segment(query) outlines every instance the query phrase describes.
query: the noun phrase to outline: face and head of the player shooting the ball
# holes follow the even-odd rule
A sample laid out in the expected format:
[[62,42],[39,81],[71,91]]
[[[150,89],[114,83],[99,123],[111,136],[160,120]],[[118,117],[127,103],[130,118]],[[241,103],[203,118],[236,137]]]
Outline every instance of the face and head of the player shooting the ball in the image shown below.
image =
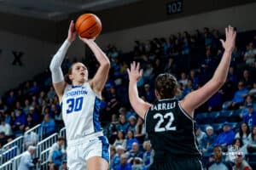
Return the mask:
[[76,63],[72,66],[72,74],[69,75],[72,82],[84,83],[88,80],[88,70],[82,63]]

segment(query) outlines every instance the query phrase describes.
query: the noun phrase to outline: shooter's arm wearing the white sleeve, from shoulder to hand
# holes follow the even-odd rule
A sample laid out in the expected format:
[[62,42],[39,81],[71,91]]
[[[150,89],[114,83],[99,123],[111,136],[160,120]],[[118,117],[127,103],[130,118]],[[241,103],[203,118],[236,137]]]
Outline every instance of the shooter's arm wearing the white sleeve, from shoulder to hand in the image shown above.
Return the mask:
[[67,49],[70,44],[75,40],[76,32],[74,31],[73,20],[70,22],[68,29],[68,36],[65,42],[61,45],[61,48],[57,51],[53,59],[51,59],[49,70],[51,71],[51,77],[55,92],[61,100],[66,82],[64,81],[63,73],[61,71],[61,63],[67,54]]

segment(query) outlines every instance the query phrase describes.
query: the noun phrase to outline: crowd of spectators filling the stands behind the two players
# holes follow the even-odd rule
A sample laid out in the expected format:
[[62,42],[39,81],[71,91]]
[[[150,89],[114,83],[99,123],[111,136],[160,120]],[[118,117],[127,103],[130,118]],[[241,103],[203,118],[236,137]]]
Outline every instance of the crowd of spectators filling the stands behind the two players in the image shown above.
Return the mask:
[[[255,31],[238,34],[224,87],[195,111],[198,123],[196,138],[203,153],[204,166],[209,169],[238,169],[241,165],[247,165],[247,154],[256,153],[255,35]],[[106,48],[111,69],[102,93],[100,118],[111,144],[110,169],[147,169],[154,161],[154,150],[148,141],[143,119],[132,110],[128,98],[126,68],[131,61],[139,61],[143,68],[143,77],[137,86],[144,100],[154,102],[154,78],[162,72],[169,72],[177,77],[180,92],[177,99],[183,99],[212,77],[223,54],[219,42],[222,37],[218,30],[206,27],[203,32],[197,30],[195,34],[184,31],[183,34],[178,33],[169,38],[135,41],[133,51],[128,54],[122,54],[113,45]],[[71,59],[65,59],[62,65],[64,72],[67,73],[72,63]],[[92,77],[98,66],[96,59],[90,57],[85,65]],[[200,120],[205,113],[205,119]],[[222,113],[230,113],[229,118],[221,116]],[[40,138],[44,139],[63,127],[61,106],[51,86],[48,69],[32,81],[10,89],[0,98],[0,119],[0,148],[8,139],[23,135],[38,123],[41,123],[38,134],[24,136],[26,147],[37,144]],[[216,122],[206,123],[210,119],[218,122],[218,126],[213,126],[217,125]],[[38,136],[39,134],[43,135]],[[58,143],[60,140],[63,139],[59,139]],[[52,162],[53,153],[56,157],[61,157],[62,160],[58,159],[54,163],[57,167],[65,160],[62,145],[55,144],[57,151],[51,150],[49,158],[49,162]]]

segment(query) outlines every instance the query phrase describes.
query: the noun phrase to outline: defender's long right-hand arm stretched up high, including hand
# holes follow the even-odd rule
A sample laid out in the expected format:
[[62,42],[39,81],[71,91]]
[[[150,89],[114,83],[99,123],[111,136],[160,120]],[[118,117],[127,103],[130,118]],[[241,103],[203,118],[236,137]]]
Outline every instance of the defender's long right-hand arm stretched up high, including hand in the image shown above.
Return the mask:
[[236,31],[229,26],[225,29],[226,41],[220,40],[224,48],[224,54],[218,65],[217,70],[214,72],[212,79],[207,82],[202,88],[195,90],[188,94],[183,100],[180,101],[181,106],[190,116],[193,117],[194,110],[207,101],[219,88],[224,85],[228,76],[230,68],[230,59],[232,51],[235,48]]

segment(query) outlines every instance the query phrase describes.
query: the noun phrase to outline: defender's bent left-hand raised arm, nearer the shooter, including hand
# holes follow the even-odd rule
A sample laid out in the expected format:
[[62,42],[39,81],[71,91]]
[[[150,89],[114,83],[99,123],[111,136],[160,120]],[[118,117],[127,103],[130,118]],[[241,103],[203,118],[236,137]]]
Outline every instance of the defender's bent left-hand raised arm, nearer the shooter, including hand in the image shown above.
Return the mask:
[[151,106],[147,102],[143,101],[137,92],[137,81],[143,76],[143,70],[140,70],[140,64],[135,61],[131,63],[131,69],[127,69],[129,75],[129,99],[131,106],[139,116],[144,119],[144,115],[148,108]]

